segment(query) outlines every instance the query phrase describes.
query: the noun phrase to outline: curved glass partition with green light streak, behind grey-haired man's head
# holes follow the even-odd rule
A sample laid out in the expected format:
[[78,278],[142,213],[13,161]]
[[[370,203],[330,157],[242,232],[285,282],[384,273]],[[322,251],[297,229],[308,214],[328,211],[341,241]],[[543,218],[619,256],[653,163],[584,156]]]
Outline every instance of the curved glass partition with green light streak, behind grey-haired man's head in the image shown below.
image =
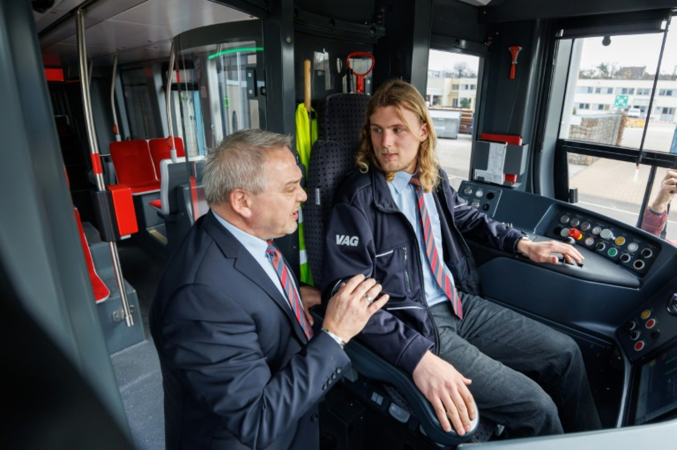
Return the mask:
[[190,204],[192,221],[209,210],[202,191],[204,156],[235,131],[265,129],[262,35],[261,21],[248,20],[174,39],[171,115],[174,135],[185,144],[188,185],[181,200]]

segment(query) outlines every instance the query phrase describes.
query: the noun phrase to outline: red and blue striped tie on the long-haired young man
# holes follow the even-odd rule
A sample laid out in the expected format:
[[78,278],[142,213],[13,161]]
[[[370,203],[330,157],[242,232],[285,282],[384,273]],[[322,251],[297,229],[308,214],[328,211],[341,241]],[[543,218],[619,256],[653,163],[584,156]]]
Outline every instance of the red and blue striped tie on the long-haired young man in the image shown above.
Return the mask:
[[409,183],[414,186],[416,192],[416,200],[418,200],[418,212],[420,212],[421,227],[423,229],[423,239],[425,241],[425,254],[428,256],[428,263],[433,271],[433,276],[437,282],[437,286],[441,288],[444,294],[451,300],[454,313],[459,319],[463,318],[463,311],[461,309],[461,298],[456,292],[456,286],[444,270],[444,263],[437,253],[437,246],[435,246],[435,236],[433,235],[433,224],[431,223],[428,210],[425,207],[425,200],[423,197],[423,187],[418,179],[418,175],[413,175]]

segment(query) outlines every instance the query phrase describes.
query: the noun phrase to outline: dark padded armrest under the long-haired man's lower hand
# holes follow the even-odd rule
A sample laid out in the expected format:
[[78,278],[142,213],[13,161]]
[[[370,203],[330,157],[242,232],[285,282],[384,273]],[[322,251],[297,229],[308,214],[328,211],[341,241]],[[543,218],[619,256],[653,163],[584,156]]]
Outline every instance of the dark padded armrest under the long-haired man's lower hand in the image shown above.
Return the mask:
[[[318,323],[322,323],[320,314],[324,315],[324,310],[315,307],[311,309],[311,313],[315,317],[315,326]],[[439,420],[437,420],[433,406],[424,397],[416,384],[414,384],[414,380],[412,380],[409,374],[391,365],[356,339],[351,339],[346,344],[345,353],[350,358],[353,368],[362,374],[362,376],[395,386],[408,401],[410,407],[412,407],[413,413],[416,415],[425,434],[435,443],[458,445],[468,441],[475,434],[479,425],[479,411],[475,420],[471,422],[473,428],[470,432],[467,432],[463,436],[458,436],[454,430],[447,433],[443,430]]]

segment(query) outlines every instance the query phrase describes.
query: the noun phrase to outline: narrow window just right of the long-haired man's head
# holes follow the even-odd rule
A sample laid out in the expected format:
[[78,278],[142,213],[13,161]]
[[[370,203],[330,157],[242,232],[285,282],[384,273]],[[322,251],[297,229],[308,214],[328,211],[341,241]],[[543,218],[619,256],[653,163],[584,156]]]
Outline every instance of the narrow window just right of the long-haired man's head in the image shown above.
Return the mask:
[[470,172],[480,58],[431,50],[428,61],[426,103],[437,134],[437,157],[458,189]]

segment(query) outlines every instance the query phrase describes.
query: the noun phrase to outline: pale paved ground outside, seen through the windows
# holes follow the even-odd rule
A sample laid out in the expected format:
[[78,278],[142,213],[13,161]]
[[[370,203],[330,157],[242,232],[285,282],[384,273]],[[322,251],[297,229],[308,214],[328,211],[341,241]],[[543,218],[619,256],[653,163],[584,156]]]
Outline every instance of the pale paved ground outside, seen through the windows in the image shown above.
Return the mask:
[[[668,152],[675,127],[674,123],[650,123],[645,148]],[[642,129],[626,128],[622,145],[638,148],[641,139]],[[470,135],[438,139],[437,154],[441,166],[455,189],[461,181],[468,179],[471,149]],[[664,175],[665,169],[659,168],[652,192],[656,192]],[[631,225],[637,223],[648,179],[648,166],[640,165],[636,170],[635,164],[630,162],[600,159],[590,166],[569,164],[569,185],[578,188],[578,206]],[[668,239],[677,240],[677,208],[673,208],[668,217]]]

